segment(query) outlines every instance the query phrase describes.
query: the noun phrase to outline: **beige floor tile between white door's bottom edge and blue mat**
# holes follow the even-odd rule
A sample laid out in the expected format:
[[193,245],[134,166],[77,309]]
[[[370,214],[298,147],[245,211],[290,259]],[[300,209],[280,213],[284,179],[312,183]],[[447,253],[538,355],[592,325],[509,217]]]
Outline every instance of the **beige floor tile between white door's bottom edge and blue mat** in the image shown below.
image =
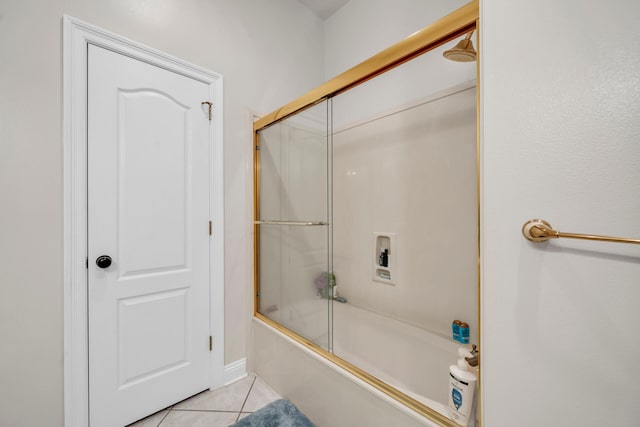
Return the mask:
[[202,392],[176,404],[174,409],[240,412],[254,378],[255,375],[251,374],[221,389]]

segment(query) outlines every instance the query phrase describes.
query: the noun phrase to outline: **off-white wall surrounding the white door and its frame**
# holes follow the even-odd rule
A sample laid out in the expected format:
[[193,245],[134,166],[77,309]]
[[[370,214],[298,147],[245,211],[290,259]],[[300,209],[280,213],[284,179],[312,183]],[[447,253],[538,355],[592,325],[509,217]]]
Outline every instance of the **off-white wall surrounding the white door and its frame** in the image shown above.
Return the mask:
[[0,425],[63,422],[62,15],[225,78],[225,359],[246,356],[249,110],[323,81],[322,22],[295,0],[0,2]]

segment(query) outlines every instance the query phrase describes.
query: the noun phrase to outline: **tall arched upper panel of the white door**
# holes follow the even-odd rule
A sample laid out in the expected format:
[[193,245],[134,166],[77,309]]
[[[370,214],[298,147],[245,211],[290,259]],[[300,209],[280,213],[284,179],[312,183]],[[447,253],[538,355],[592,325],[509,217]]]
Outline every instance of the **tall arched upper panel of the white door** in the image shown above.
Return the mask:
[[158,91],[118,98],[119,273],[186,268],[190,147],[174,141],[188,140],[189,109]]

